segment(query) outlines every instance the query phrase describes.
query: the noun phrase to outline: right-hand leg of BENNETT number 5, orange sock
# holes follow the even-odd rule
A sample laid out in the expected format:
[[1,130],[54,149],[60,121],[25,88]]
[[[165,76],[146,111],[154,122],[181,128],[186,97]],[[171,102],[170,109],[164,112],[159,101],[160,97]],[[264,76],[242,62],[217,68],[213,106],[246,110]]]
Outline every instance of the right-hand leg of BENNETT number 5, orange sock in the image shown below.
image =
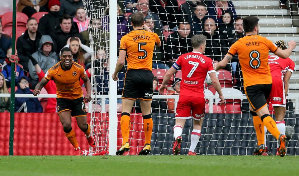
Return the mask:
[[151,105],[152,105],[151,100],[140,98],[145,143],[138,155],[148,155],[151,151],[150,141],[153,132],[153,119],[151,115]]

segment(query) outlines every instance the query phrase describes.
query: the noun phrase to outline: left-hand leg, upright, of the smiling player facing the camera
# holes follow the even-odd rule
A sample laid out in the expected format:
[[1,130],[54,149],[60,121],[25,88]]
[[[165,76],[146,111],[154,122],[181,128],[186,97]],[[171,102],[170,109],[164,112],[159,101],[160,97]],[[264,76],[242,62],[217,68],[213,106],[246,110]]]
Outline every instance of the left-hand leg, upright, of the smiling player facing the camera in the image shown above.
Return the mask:
[[76,139],[75,132],[71,126],[71,111],[69,110],[60,111],[58,115],[59,115],[59,120],[63,126],[63,131],[66,138],[68,138],[69,142],[75,148],[74,155],[78,155],[78,156],[81,155],[81,149]]

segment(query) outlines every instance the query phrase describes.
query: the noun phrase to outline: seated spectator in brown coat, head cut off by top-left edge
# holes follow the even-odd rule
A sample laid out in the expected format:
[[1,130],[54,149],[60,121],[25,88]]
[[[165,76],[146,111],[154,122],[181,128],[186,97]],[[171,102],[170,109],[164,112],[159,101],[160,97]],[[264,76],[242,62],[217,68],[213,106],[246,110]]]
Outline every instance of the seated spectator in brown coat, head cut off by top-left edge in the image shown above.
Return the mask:
[[25,13],[31,17],[34,13],[40,11],[40,7],[44,6],[49,0],[19,0],[18,12]]

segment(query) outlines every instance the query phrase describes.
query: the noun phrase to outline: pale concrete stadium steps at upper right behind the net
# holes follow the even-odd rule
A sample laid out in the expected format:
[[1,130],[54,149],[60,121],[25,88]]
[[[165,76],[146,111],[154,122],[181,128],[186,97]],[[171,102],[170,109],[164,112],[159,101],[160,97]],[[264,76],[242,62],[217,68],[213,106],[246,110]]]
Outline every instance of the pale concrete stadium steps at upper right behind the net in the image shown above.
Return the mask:
[[260,33],[268,39],[284,40],[288,42],[295,40],[297,47],[290,58],[295,62],[295,71],[289,82],[289,93],[299,93],[299,30],[292,25],[290,10],[279,9],[279,1],[268,0],[239,0],[232,1],[238,15],[258,16],[260,21]]

